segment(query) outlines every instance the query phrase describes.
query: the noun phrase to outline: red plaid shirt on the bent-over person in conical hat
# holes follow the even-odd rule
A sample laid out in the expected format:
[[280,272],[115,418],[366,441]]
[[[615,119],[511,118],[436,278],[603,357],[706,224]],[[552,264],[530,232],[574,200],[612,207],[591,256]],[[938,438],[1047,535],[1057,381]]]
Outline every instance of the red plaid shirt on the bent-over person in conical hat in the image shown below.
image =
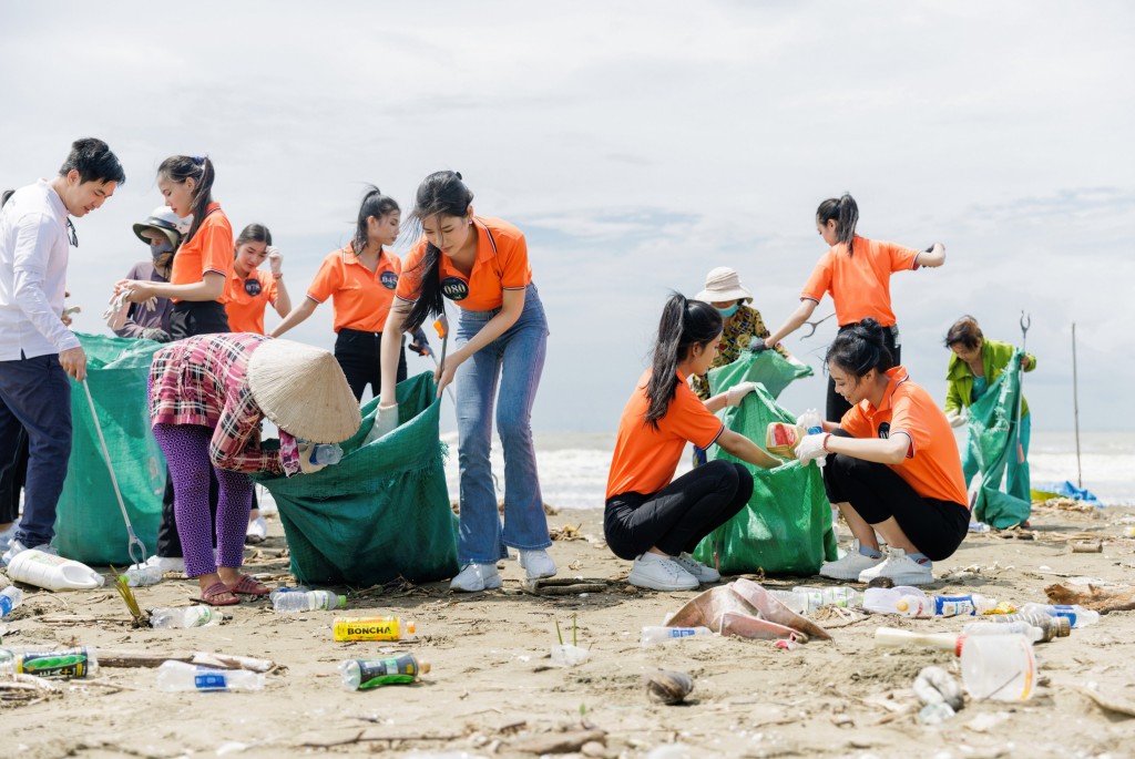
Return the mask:
[[[201,424],[213,430],[209,458],[236,472],[292,474],[299,456],[260,448],[260,410],[249,389],[249,359],[263,335],[222,332],[171,343],[150,366],[150,423]],[[280,439],[285,437],[280,430]],[[294,449],[294,446],[293,446]]]

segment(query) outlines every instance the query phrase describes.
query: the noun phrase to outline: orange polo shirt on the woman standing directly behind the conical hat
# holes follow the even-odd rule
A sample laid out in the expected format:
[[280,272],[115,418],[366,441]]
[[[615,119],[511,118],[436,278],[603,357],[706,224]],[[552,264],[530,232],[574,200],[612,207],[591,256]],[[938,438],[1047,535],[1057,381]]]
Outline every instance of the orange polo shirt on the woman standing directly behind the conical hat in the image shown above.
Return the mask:
[[378,265],[371,271],[359,262],[347,243],[323,259],[308,288],[308,297],[316,303],[331,298],[336,332],[340,329],[381,332],[401,273],[402,261],[389,251],[382,250]]

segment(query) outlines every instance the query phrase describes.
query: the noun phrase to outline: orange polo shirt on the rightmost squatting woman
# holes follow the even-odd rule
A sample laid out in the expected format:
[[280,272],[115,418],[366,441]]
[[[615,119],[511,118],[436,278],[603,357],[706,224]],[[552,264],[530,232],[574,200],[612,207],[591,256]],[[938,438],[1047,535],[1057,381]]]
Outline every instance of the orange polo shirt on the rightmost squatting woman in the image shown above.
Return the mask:
[[[858,253],[856,253],[858,255]],[[878,408],[860,400],[843,414],[840,427],[857,438],[890,438],[906,432],[907,458],[889,464],[923,498],[952,500],[968,507],[961,456],[945,414],[923,388],[910,381],[907,370],[886,372],[890,382]]]

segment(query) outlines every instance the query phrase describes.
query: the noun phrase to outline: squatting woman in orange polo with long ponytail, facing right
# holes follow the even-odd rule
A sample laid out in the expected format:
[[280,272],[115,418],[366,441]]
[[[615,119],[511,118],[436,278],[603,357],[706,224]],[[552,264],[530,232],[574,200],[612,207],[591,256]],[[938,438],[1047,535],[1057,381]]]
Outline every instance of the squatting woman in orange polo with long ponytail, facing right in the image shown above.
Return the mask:
[[628,581],[654,590],[690,590],[721,579],[690,556],[698,542],[740,512],[753,495],[745,466],[717,459],[673,480],[687,442],[717,444],[754,466],[779,461],[726,430],[714,412],[740,405],[753,382],[701,400],[686,383],[717,355],[722,318],[708,303],[673,295],[658,324],[654,359],[623,408],[607,477],[603,531],[616,556],[633,559]]

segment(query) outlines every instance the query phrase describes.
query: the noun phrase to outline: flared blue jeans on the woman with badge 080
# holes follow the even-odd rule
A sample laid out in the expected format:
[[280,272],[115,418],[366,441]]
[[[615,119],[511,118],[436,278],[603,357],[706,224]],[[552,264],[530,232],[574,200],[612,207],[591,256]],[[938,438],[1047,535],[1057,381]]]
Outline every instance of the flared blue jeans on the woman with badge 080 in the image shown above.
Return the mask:
[[[462,311],[457,322],[457,346],[468,343],[499,312],[499,309]],[[461,472],[457,558],[462,565],[495,564],[508,557],[505,546],[532,550],[552,545],[536,472],[531,423],[547,343],[544,305],[536,285],[529,285],[524,310],[516,323],[457,368],[454,377]],[[489,466],[494,398],[497,399],[497,433],[504,446],[503,529]]]

